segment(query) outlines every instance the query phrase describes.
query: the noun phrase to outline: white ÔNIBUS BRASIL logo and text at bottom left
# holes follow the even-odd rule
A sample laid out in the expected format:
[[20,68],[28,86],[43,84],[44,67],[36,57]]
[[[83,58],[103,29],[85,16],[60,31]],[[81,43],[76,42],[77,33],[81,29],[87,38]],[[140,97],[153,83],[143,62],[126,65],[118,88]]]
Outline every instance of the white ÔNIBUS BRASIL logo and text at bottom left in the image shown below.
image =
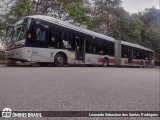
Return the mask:
[[2,117],[10,118],[10,117],[42,117],[39,112],[13,112],[10,108],[4,108],[2,110]]

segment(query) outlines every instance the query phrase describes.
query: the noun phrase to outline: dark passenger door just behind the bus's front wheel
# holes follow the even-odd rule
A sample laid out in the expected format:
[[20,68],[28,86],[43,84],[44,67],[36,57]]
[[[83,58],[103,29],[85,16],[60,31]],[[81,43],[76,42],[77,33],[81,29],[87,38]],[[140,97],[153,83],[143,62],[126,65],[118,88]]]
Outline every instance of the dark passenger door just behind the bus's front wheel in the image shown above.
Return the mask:
[[75,39],[75,60],[77,62],[84,62],[85,53],[84,53],[84,37],[76,36]]

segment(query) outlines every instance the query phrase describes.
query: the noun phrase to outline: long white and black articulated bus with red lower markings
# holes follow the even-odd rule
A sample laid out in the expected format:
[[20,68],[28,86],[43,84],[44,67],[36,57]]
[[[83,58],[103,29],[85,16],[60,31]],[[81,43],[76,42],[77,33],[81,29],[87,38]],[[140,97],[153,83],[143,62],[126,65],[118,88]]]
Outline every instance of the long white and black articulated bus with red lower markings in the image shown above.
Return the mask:
[[13,26],[6,55],[10,60],[41,66],[154,65],[154,51],[148,48],[43,15],[27,16]]

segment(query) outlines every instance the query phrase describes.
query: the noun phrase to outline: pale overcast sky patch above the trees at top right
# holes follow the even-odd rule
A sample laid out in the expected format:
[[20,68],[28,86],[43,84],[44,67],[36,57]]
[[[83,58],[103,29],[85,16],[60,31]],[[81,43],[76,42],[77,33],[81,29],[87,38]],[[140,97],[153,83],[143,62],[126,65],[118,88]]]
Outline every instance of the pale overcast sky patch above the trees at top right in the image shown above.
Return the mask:
[[159,9],[160,0],[121,0],[122,7],[130,13],[138,13],[144,11],[145,8],[155,6]]

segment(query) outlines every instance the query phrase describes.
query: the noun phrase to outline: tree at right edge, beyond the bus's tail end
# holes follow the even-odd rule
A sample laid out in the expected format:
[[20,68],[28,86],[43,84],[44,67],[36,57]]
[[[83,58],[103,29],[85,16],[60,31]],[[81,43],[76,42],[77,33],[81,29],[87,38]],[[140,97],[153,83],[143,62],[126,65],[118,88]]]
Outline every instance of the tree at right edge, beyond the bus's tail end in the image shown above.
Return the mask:
[[153,49],[158,59],[160,58],[160,11],[152,7],[145,9],[138,16],[144,22],[141,33],[142,44]]

